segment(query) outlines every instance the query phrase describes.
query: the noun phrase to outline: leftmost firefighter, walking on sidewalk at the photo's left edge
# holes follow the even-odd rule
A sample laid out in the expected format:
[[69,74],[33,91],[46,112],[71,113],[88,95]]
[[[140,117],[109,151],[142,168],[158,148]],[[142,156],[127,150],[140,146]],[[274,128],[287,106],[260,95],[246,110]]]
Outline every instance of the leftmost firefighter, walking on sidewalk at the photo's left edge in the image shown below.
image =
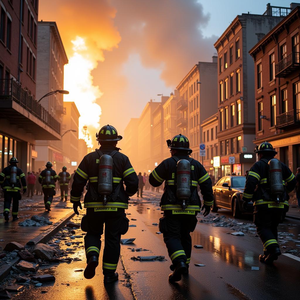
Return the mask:
[[21,184],[23,194],[26,193],[26,177],[23,171],[17,167],[18,160],[15,157],[10,158],[9,166],[0,173],[0,185],[4,190],[4,220],[9,221],[10,203],[13,200],[11,214],[13,221],[18,220],[19,200],[21,200]]

